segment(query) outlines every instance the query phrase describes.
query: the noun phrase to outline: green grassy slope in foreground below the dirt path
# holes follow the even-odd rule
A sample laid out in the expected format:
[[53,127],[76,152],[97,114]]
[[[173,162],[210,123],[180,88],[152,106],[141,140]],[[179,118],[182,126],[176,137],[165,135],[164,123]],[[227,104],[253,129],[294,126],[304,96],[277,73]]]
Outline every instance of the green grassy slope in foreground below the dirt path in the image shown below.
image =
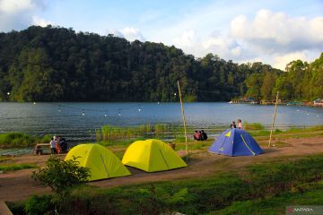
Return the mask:
[[[67,214],[284,214],[287,205],[322,202],[322,178],[323,155],[318,155],[204,178],[109,189],[85,186],[60,206]],[[311,201],[302,199],[310,196]]]

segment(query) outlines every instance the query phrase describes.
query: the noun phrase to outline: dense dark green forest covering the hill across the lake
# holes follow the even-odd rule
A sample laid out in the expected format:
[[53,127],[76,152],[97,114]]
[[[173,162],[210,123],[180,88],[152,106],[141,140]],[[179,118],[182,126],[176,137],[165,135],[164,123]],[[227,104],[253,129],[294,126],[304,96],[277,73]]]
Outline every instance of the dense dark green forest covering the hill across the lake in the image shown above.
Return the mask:
[[323,97],[323,55],[286,68],[52,26],[0,33],[0,100],[174,101],[178,80],[188,101]]

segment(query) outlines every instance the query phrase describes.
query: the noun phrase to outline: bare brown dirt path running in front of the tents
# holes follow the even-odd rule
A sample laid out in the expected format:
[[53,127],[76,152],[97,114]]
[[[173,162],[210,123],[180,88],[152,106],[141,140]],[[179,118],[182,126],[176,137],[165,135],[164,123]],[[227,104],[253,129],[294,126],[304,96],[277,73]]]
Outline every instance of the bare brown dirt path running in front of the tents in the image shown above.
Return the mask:
[[[301,157],[323,152],[323,137],[289,138],[285,139],[284,142],[285,147],[282,148],[262,147],[265,153],[256,157],[228,157],[208,153],[205,150],[191,151],[188,168],[157,173],[146,173],[136,168],[129,168],[132,176],[109,178],[89,184],[99,187],[111,187],[184,178],[200,178],[211,176],[218,172],[237,170],[253,163],[270,162],[275,159]],[[273,143],[275,144],[275,141]],[[48,158],[49,155],[24,155],[9,159],[12,159],[14,163],[33,163],[44,166]],[[62,155],[62,158],[64,158],[64,155]],[[0,201],[26,200],[32,194],[50,193],[49,188],[42,187],[31,179],[32,171],[33,169],[23,169],[0,174]]]

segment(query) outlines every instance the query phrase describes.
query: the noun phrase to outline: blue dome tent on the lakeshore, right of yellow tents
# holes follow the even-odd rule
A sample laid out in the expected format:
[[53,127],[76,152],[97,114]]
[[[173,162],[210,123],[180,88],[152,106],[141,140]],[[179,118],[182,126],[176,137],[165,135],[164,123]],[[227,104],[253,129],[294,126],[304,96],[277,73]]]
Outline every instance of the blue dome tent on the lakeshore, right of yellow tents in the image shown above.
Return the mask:
[[255,156],[263,152],[249,133],[237,128],[223,132],[209,151],[229,156]]

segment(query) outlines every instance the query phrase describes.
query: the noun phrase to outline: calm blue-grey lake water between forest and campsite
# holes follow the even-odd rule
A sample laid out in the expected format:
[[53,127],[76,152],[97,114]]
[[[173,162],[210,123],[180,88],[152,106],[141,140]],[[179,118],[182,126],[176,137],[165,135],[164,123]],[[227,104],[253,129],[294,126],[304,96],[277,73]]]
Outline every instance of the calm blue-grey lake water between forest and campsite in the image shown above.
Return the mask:
[[[187,124],[220,133],[241,118],[270,127],[274,106],[196,102],[184,104]],[[16,103],[0,102],[0,133],[61,134],[70,142],[93,141],[102,125],[181,125],[179,103]],[[323,108],[279,106],[275,127],[323,125]],[[212,129],[211,129],[212,128]],[[193,131],[188,131],[192,133]]]

